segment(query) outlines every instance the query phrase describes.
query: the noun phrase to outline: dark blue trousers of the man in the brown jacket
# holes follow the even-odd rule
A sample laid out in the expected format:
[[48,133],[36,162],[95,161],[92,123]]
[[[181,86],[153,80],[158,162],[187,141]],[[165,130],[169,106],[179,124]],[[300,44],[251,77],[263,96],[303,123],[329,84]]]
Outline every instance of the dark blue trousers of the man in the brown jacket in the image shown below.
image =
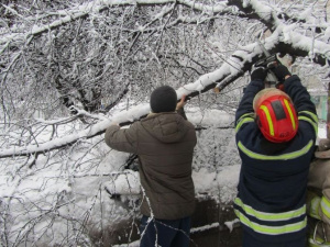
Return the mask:
[[140,247],[189,247],[190,217],[165,221],[142,216]]

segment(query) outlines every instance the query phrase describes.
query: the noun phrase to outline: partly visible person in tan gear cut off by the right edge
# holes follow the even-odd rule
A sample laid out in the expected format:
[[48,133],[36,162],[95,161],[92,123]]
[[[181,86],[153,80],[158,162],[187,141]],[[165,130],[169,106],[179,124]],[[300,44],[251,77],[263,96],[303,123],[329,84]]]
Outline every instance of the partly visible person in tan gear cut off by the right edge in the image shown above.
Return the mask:
[[330,139],[320,139],[308,177],[309,246],[330,246]]

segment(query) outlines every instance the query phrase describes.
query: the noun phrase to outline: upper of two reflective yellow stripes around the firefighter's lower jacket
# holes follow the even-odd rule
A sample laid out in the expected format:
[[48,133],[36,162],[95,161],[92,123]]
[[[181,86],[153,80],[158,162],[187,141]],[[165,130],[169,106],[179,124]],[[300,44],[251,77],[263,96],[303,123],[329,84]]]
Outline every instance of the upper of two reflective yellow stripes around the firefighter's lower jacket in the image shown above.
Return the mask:
[[306,213],[306,205],[301,206],[298,210],[293,210],[293,211],[288,211],[288,212],[284,212],[284,213],[265,213],[265,212],[256,211],[253,207],[251,207],[250,205],[245,205],[242,202],[242,200],[239,198],[237,198],[234,200],[234,203],[237,205],[239,205],[240,207],[242,207],[242,210],[246,214],[254,216],[258,220],[270,221],[270,222],[287,221],[287,220],[290,220],[294,217],[299,217]]

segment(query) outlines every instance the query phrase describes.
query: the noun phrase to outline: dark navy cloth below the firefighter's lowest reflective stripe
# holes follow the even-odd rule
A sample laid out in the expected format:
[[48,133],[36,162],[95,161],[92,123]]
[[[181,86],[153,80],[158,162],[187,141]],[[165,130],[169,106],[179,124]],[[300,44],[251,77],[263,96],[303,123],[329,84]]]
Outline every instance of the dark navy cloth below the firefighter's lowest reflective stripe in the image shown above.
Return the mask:
[[243,247],[306,247],[306,237],[286,243],[265,243],[243,231]]

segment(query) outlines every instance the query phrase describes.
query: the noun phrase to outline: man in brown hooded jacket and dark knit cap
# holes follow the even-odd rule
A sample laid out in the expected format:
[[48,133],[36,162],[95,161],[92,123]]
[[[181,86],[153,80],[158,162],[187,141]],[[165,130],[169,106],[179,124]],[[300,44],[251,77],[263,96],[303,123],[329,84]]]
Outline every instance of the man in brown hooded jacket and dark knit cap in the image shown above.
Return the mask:
[[[142,186],[141,247],[188,247],[190,215],[195,210],[191,162],[196,132],[184,113],[185,97],[156,88],[150,99],[152,113],[129,128],[110,126],[106,143],[140,159]],[[179,114],[178,114],[179,113]]]

